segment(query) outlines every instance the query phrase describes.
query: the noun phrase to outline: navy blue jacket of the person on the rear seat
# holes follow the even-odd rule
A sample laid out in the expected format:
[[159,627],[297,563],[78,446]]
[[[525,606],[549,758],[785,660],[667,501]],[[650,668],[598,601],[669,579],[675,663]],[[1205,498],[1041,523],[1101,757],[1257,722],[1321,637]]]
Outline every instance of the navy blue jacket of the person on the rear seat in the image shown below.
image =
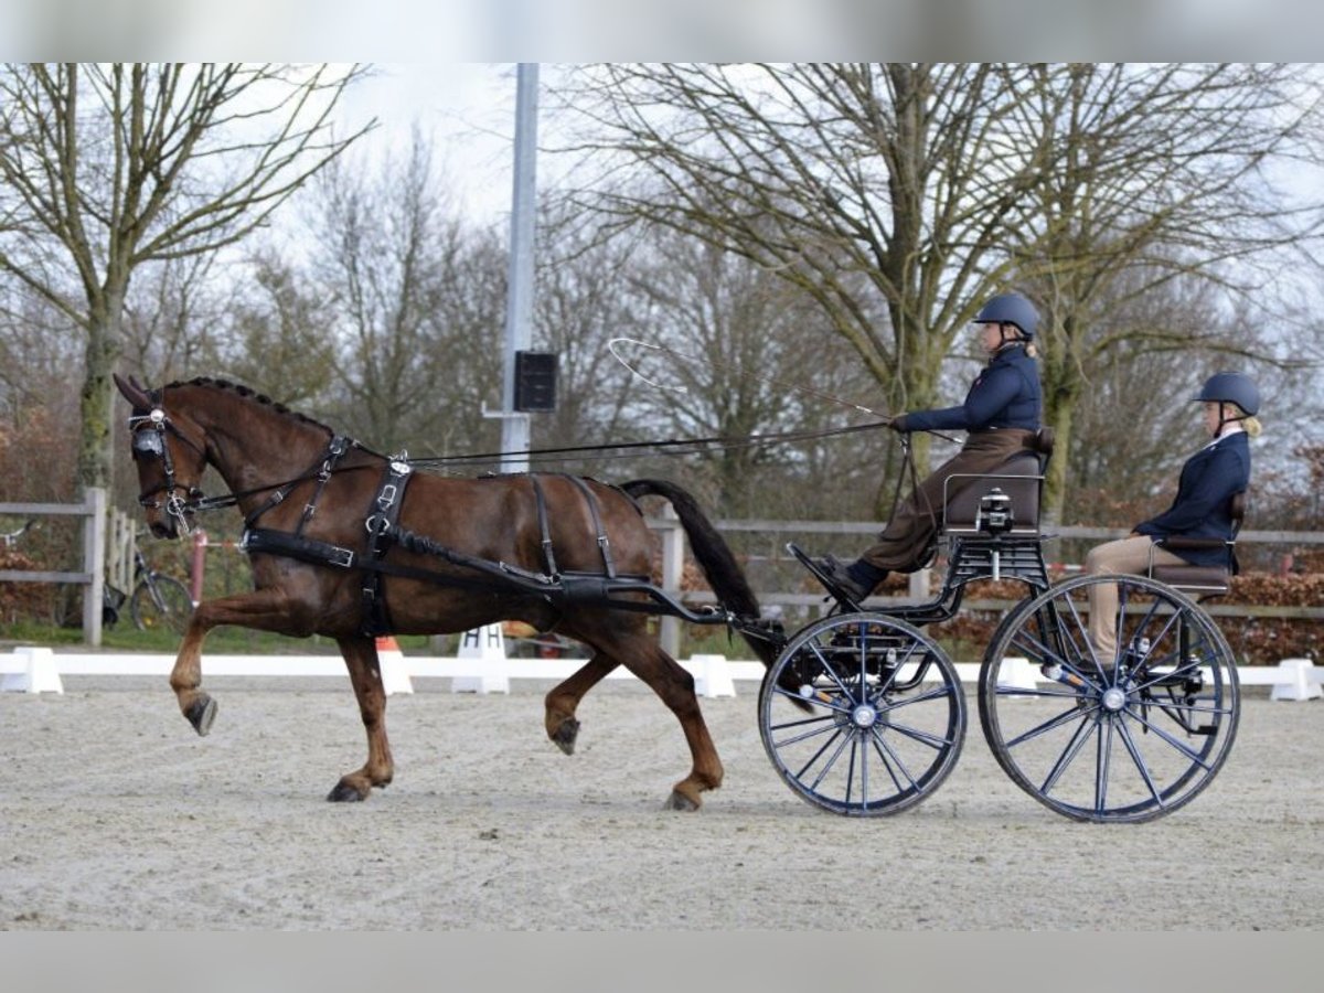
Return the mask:
[[[1231,498],[1250,485],[1250,438],[1237,432],[1219,438],[1186,459],[1172,506],[1133,528],[1152,538],[1233,536]],[[1227,552],[1219,548],[1172,549],[1193,565],[1226,565]]]

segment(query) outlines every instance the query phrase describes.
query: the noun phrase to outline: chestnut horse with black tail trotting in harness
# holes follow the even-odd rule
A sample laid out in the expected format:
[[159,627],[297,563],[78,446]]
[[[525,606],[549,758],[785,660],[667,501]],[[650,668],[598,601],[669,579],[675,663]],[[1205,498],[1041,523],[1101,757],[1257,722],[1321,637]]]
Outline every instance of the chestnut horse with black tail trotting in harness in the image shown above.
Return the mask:
[[[613,487],[559,474],[458,479],[412,473],[241,385],[195,379],[148,391],[119,376],[115,384],[132,405],[139,500],[152,534],[180,536],[200,508],[237,506],[245,515],[254,591],[197,605],[169,677],[197,733],[205,735],[216,716],[214,700],[201,688],[203,641],[212,628],[335,638],[359,700],[368,760],[343,775],[327,798],[364,800],[395,776],[375,637],[387,633],[383,620],[396,634],[519,620],[540,632],[555,628],[593,651],[544,700],[547,735],[561,751],[573,751],[583,696],[625,666],[675,714],[690,745],[692,767],[667,805],[695,810],[700,794],[722,784],[694,679],[646,632],[645,612],[606,605],[592,594],[592,581],[587,596],[549,597],[539,594],[536,581],[504,583],[500,575],[536,577],[551,555],[549,572],[647,577],[653,543],[633,496],[658,494],[675,506],[719,602],[757,618],[757,601],[735,557],[679,487],[655,479]],[[224,479],[228,496],[203,496],[207,466]],[[393,534],[422,540],[400,542],[383,553],[369,547],[380,528],[373,514],[396,493],[402,499],[392,507],[400,530]],[[265,540],[249,540],[257,538]],[[372,561],[381,571],[365,583],[371,569],[360,565]],[[745,637],[765,663],[773,661],[772,643]]]

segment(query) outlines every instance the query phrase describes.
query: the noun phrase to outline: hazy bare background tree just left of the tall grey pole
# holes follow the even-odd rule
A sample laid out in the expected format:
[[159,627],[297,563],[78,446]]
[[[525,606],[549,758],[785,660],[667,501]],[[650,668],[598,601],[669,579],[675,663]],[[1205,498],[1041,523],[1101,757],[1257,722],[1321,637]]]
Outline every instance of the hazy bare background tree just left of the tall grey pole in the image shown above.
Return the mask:
[[500,397],[504,245],[467,228],[421,131],[401,154],[326,169],[290,274],[319,302],[335,357],[320,416],[383,450],[451,457],[494,450]]

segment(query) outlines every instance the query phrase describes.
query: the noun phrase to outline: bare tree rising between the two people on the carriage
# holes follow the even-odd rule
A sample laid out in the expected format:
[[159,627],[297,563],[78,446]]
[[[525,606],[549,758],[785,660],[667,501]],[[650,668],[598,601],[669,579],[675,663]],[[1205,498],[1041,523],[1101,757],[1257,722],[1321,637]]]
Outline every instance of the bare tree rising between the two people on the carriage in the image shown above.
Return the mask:
[[[1188,367],[1198,352],[1275,360],[1260,332],[1284,299],[1274,283],[1284,265],[1317,271],[1324,197],[1288,200],[1270,167],[1319,162],[1324,91],[1312,68],[1291,65],[1035,65],[1019,78],[1013,127],[1042,154],[1009,248],[1047,316],[1058,516],[1087,391],[1129,379],[1139,400],[1172,354]],[[1132,421],[1139,405],[1119,409]]]

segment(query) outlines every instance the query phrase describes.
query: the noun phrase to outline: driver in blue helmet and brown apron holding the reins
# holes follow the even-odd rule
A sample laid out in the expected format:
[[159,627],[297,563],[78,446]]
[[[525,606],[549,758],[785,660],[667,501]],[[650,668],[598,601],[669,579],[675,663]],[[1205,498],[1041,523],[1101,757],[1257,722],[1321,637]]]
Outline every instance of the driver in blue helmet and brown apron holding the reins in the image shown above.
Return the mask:
[[[888,572],[915,572],[924,567],[937,535],[948,477],[990,473],[1034,445],[1043,410],[1034,361],[1038,311],[1025,297],[1005,293],[985,303],[974,323],[980,326],[980,343],[989,361],[976,376],[965,402],[902,414],[890,425],[903,433],[965,430],[969,432],[965,445],[894,508],[876,544],[866,548],[859,559],[847,564],[829,555],[817,561],[855,601],[873,593]],[[945,496],[955,496],[969,482],[951,489]]]

